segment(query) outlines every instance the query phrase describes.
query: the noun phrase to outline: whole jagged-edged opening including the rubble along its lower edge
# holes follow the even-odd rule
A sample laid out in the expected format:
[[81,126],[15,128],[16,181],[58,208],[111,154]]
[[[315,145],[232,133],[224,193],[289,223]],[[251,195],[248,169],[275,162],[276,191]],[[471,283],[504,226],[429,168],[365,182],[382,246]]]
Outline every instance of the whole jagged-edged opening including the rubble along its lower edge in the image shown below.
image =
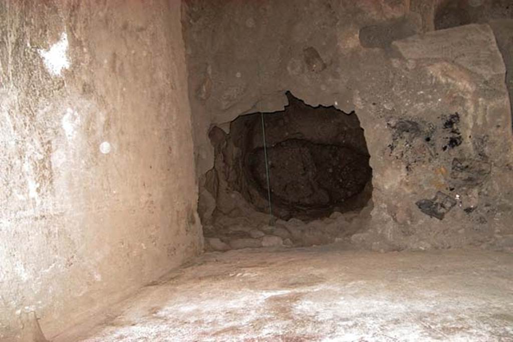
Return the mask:
[[[229,133],[211,128],[215,165],[206,175],[205,188],[216,204],[211,219],[203,220],[206,237],[221,236],[229,243],[235,231],[238,238],[254,238],[250,230],[262,230],[275,219],[289,233],[291,225],[322,227],[315,233],[323,235],[322,243],[354,233],[347,223],[334,220],[345,213],[358,216],[372,196],[370,156],[360,121],[354,112],[312,107],[290,92],[286,95],[284,110],[240,115],[230,123]],[[323,231],[331,222],[331,230]],[[308,245],[303,236],[291,243]]]

